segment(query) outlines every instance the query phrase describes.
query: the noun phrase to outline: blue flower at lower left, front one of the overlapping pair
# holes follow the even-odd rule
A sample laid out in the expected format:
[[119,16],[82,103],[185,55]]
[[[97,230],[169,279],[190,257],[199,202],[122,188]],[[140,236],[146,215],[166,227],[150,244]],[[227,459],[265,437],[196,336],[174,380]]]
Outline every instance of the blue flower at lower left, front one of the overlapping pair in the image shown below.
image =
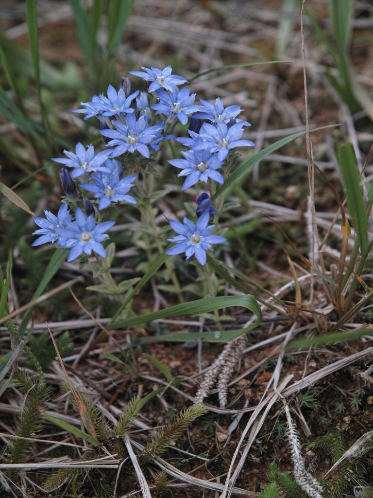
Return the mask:
[[90,215],[86,218],[80,208],[77,209],[75,217],[76,221],[69,223],[67,228],[57,229],[59,235],[67,239],[65,247],[72,248],[67,260],[69,262],[74,261],[82,252],[90,256],[92,251],[99,256],[105,257],[106,251],[100,243],[109,236],[103,232],[115,225],[115,222],[106,221],[96,225],[94,216]]

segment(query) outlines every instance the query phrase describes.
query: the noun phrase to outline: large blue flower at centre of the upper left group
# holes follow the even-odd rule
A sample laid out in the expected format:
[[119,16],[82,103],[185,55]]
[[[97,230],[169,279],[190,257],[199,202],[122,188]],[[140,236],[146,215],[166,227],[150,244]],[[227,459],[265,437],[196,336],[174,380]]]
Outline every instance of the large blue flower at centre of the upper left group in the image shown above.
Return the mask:
[[145,116],[140,116],[138,121],[134,114],[129,114],[126,119],[126,124],[113,121],[115,129],[101,129],[100,133],[103,136],[112,138],[107,144],[107,147],[115,147],[111,152],[110,157],[117,157],[124,152],[139,151],[145,157],[149,157],[148,144],[153,143],[156,139],[159,126],[150,126]]

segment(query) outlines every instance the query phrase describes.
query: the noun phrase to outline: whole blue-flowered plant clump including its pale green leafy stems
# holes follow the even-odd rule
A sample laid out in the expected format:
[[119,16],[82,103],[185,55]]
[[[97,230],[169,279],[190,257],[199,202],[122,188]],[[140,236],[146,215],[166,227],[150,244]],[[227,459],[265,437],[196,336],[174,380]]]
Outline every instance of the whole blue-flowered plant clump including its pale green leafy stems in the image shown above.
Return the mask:
[[[60,247],[70,249],[68,261],[79,259],[81,266],[90,265],[89,256],[94,254],[101,268],[91,267],[93,276],[102,284],[97,287],[117,296],[120,289],[128,289],[128,285],[114,283],[109,272],[113,245],[110,244],[109,255],[103,245],[109,239],[106,232],[115,224],[109,221],[116,216],[112,208],[130,204],[139,210],[142,228],[134,241],[146,249],[149,265],[154,260],[155,248],[159,254],[164,251],[168,255],[185,253],[187,260],[195,256],[197,263],[205,268],[206,278],[211,280],[211,270],[206,267],[207,252],[213,245],[226,242],[226,238],[219,235],[218,225],[224,197],[217,207],[211,195],[224,184],[237,160],[236,147],[255,145],[241,139],[244,126],[250,124],[236,119],[242,111],[240,106],[224,109],[220,99],[216,99],[215,105],[204,100],[200,101],[202,106],[194,105],[195,94],[190,94],[187,87],[178,88],[187,80],[173,75],[170,66],[163,70],[141,69],[143,72],[130,71],[130,74],[141,77],[148,85],[148,92],[133,92],[130,80],[122,78],[118,92],[109,85],[107,97],[93,96],[92,102],[81,103],[82,109],[72,111],[84,114],[85,120],[98,118],[104,148],[97,151],[92,144],[78,142],[75,152],[64,150],[67,157],[52,159],[65,166],[61,168],[60,178],[66,196],[57,216],[45,211],[46,218],[35,218],[40,230],[34,232],[39,238],[33,246],[58,242]],[[154,190],[160,175],[157,161],[164,157],[160,145],[175,138],[173,131],[178,123],[186,125],[188,121],[189,137],[176,138],[188,150],[181,152],[182,159],[170,158],[168,163],[181,169],[178,176],[186,177],[181,190],[193,187],[199,193],[194,219],[185,217],[183,223],[170,220],[171,228],[178,235],[166,238],[161,236],[165,228],[159,229],[152,206],[164,195],[164,191]],[[174,150],[173,146],[170,149]],[[201,193],[201,188],[210,195]],[[211,215],[215,224],[209,224]],[[149,235],[153,239],[149,239]],[[174,245],[166,248],[166,241]],[[168,259],[165,264],[168,275],[178,287],[172,261]],[[103,273],[105,278],[101,276]]]

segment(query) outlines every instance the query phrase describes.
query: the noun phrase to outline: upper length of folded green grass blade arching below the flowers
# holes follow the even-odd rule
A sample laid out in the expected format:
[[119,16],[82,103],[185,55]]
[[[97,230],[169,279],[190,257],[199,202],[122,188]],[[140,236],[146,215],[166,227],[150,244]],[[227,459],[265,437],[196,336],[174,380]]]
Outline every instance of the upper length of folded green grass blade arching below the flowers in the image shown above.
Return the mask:
[[[140,323],[148,323],[159,318],[168,318],[171,316],[178,315],[198,315],[201,313],[210,313],[211,311],[220,310],[222,308],[228,308],[230,306],[243,306],[252,311],[252,308],[256,306],[256,311],[259,310],[259,315],[261,316],[261,311],[253,296],[219,296],[219,297],[208,297],[205,299],[198,299],[196,301],[189,301],[187,303],[177,304],[176,306],[171,306],[164,310],[155,311],[153,313],[146,313],[145,315],[140,315],[135,318],[128,318],[127,320],[122,320],[120,322],[112,323],[108,325],[108,329],[121,329],[124,327],[130,327],[132,325],[138,325]],[[257,314],[257,313],[255,313]]]

